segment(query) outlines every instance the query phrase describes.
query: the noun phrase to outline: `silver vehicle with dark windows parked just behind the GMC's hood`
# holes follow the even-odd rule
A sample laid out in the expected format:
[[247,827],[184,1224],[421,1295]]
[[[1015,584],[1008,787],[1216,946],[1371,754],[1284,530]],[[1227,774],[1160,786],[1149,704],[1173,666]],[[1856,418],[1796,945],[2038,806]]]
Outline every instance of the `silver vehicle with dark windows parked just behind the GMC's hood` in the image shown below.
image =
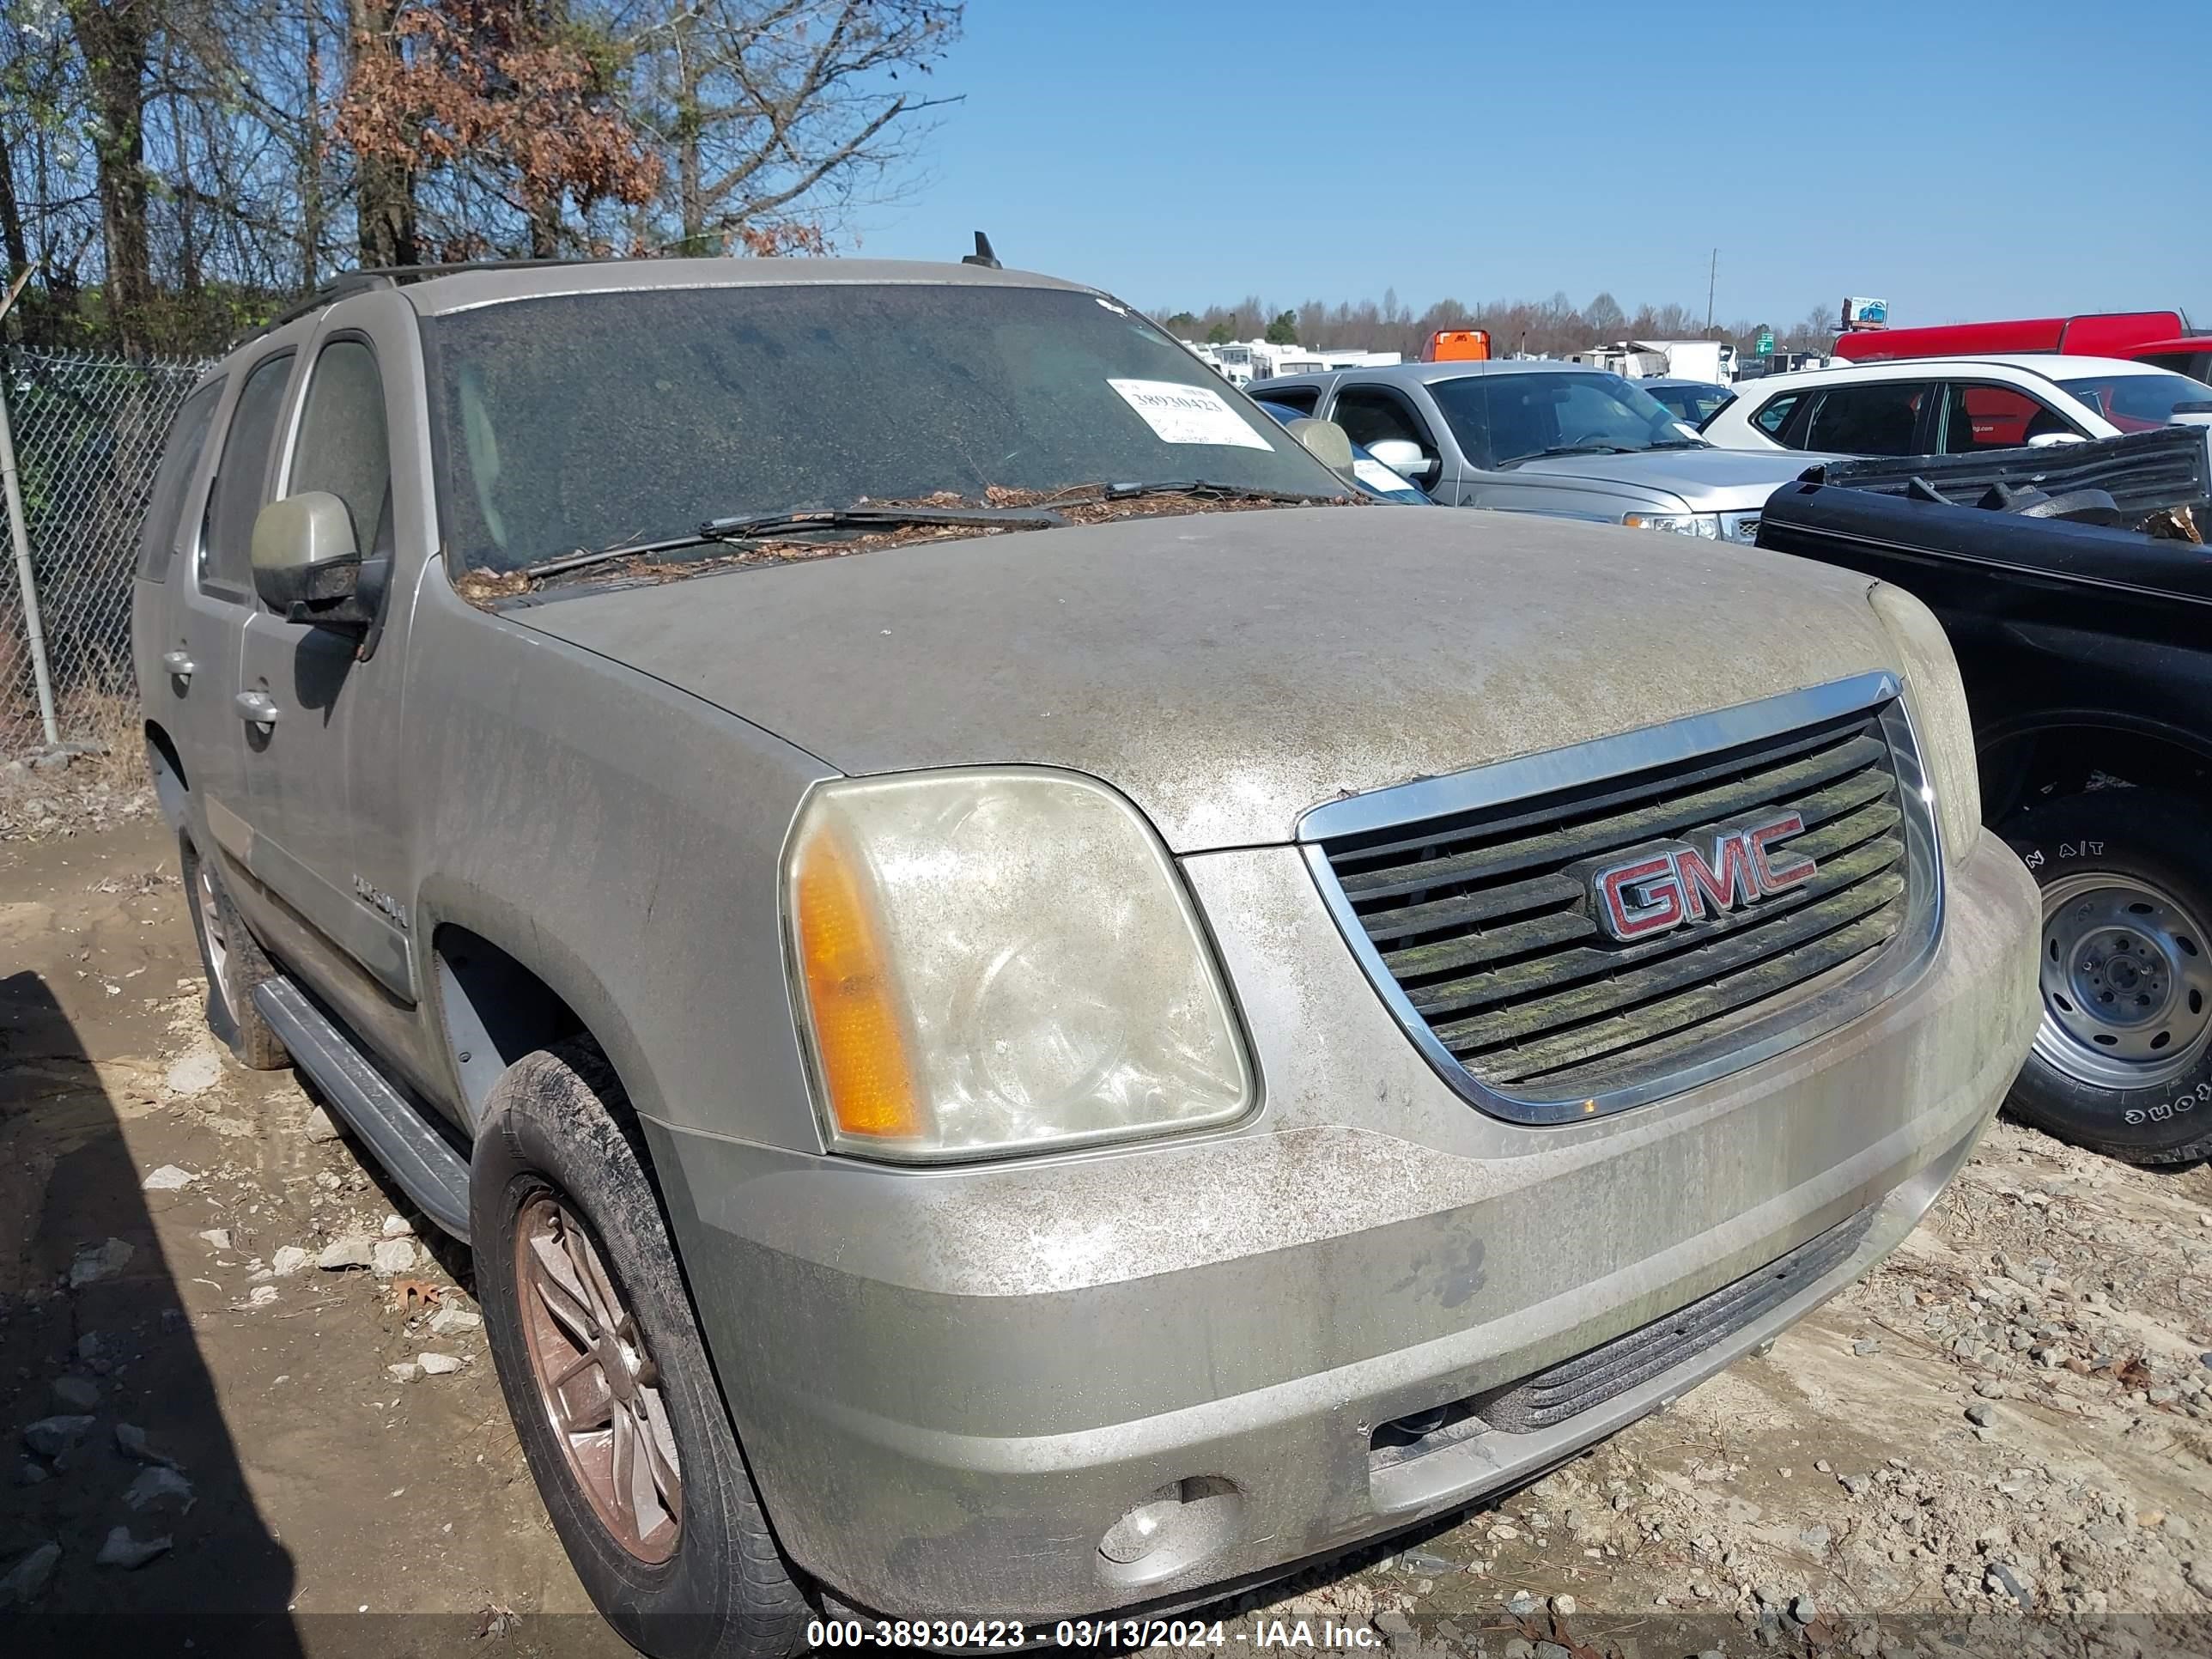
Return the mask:
[[1400,363],[1254,380],[1334,420],[1447,507],[1752,542],[1759,509],[1820,456],[1717,449],[1635,380],[1577,363]]

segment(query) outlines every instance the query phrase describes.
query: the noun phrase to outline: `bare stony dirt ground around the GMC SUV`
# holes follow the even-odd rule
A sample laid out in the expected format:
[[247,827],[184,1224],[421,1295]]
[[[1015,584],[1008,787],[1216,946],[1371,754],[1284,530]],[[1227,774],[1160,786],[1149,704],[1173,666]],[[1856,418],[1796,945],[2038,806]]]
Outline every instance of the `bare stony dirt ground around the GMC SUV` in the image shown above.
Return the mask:
[[[66,1615],[100,1610],[137,1615],[97,1626],[133,1652],[628,1652],[544,1522],[465,1252],[292,1073],[210,1042],[175,843],[104,816],[0,841],[0,1621],[44,1632],[18,1650],[91,1652]],[[2212,1652],[2208,1389],[2212,1170],[2000,1124],[1772,1354],[1208,1617],[1228,1650],[1303,1621],[1506,1659]]]

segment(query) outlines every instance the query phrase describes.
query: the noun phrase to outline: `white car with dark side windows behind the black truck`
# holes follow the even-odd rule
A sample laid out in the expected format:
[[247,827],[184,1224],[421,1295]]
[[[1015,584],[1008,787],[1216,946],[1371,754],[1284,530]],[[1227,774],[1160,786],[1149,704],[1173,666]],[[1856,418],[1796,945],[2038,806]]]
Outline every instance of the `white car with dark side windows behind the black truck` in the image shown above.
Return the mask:
[[2212,385],[2110,356],[1924,356],[1750,380],[1701,427],[1723,449],[1960,456],[2212,418]]

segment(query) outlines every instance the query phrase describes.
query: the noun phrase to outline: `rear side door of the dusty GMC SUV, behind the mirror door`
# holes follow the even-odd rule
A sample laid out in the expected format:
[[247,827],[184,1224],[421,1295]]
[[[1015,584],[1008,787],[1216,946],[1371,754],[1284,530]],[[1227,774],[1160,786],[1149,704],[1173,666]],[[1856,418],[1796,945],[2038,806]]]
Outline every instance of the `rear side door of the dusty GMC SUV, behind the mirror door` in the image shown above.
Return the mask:
[[[170,626],[159,653],[166,695],[146,699],[148,719],[164,721],[184,761],[192,841],[201,854],[221,849],[217,863],[230,867],[226,874],[246,863],[250,841],[239,653],[254,604],[254,513],[294,356],[292,347],[279,347],[250,363],[217,414],[208,504],[190,538],[190,557],[170,562]],[[164,714],[155,714],[155,706]]]

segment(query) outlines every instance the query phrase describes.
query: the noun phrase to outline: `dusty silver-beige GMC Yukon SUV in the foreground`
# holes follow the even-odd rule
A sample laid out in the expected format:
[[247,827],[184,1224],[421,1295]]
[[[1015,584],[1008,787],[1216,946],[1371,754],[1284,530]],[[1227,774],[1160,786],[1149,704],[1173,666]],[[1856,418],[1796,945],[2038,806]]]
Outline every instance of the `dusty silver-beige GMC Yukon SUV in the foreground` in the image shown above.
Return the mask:
[[2035,887],[1916,599],[1340,445],[1095,290],[838,261],[361,274],[179,416],[208,1018],[469,1241],[648,1652],[1186,1606],[1524,1482],[2011,1084]]

